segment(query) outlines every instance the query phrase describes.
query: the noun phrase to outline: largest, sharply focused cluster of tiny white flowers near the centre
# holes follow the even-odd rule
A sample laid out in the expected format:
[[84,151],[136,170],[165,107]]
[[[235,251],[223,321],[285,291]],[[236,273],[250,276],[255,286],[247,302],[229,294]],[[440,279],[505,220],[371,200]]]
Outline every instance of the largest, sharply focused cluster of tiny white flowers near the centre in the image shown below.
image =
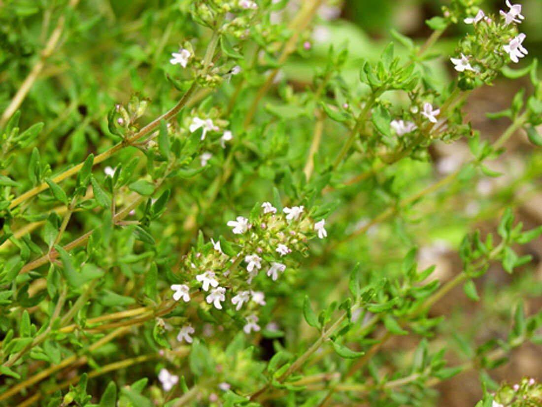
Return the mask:
[[[202,120],[201,123],[205,124]],[[211,126],[209,124],[209,126]],[[260,270],[266,270],[266,274],[272,281],[278,280],[287,268],[283,260],[284,257],[291,254],[294,250],[304,248],[307,240],[306,234],[315,234],[319,238],[327,236],[325,229],[325,220],[318,222],[312,221],[306,216],[305,207],[291,206],[285,207],[282,214],[270,203],[264,202],[261,205],[261,218],[258,221],[260,228],[254,228],[249,219],[243,216],[237,216],[235,220],[227,222],[234,235],[241,239],[244,249],[234,256],[225,255],[221,246],[221,241],[211,238],[212,250],[202,253],[193,253],[191,261],[186,257],[186,266],[192,270],[195,276],[193,285],[197,285],[205,293],[205,302],[212,305],[215,309],[222,310],[224,302],[227,299],[229,287],[228,279],[237,264],[244,262],[243,269],[246,270],[246,282],[248,289],[240,289],[230,299],[236,311],[242,311],[243,306],[247,309],[246,325],[243,331],[247,334],[260,331],[258,325],[259,317],[254,312],[255,306],[266,305],[265,294],[255,289],[250,289],[254,278]],[[254,230],[257,229],[257,230]],[[251,232],[249,233],[249,231]],[[300,246],[301,245],[301,246]],[[230,253],[226,250],[227,253]],[[272,259],[275,260],[272,260]],[[196,263],[198,266],[196,266]],[[198,270],[196,272],[196,270]],[[236,274],[236,277],[244,274]],[[191,300],[190,284],[173,284],[173,300],[188,303]],[[192,325],[184,325],[180,328],[177,335],[179,342],[192,343],[192,334],[195,329]],[[163,375],[165,377],[165,374]],[[169,382],[163,382],[169,383]],[[164,389],[165,389],[164,385]],[[169,386],[169,385],[167,385]]]

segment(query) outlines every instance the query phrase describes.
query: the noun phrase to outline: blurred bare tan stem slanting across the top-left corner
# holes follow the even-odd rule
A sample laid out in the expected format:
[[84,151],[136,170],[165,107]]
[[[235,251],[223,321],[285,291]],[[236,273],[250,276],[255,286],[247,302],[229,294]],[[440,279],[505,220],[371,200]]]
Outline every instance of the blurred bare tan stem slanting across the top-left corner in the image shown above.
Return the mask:
[[[70,0],[70,2],[68,3],[68,7],[70,9],[74,9],[75,7],[77,7],[78,3],[79,0]],[[63,14],[59,17],[59,21],[57,22],[53,33],[51,33],[51,36],[49,37],[45,48],[40,53],[40,59],[38,59],[36,64],[32,67],[32,70],[30,71],[28,76],[25,77],[21,87],[18,89],[14,98],[11,99],[9,106],[5,109],[4,113],[2,113],[2,117],[0,118],[0,127],[3,127],[9,120],[9,118],[17,111],[19,106],[21,106],[24,98],[30,91],[30,88],[42,72],[47,59],[51,55],[53,55],[53,52],[57,44],[59,43],[60,37],[62,35],[64,24],[66,24],[66,14]]]

